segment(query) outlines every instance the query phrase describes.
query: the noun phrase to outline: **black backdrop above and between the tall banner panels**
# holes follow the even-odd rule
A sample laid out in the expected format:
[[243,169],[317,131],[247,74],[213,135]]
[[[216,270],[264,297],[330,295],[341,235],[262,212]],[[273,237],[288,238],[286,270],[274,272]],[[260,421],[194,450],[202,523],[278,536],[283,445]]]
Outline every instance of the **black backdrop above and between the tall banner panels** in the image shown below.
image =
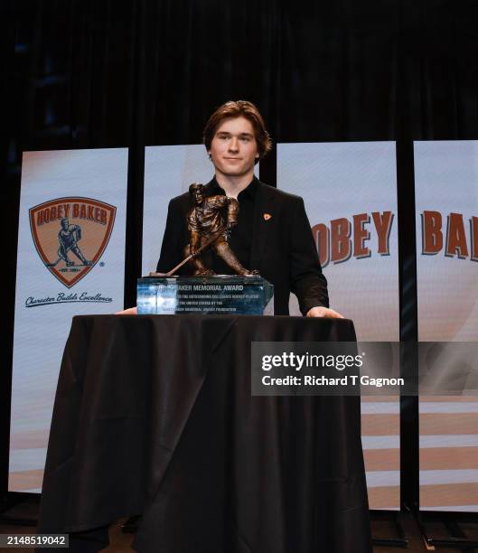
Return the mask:
[[[24,150],[130,148],[129,306],[141,267],[145,145],[198,144],[206,118],[229,99],[255,102],[276,142],[396,140],[401,338],[417,338],[412,141],[478,139],[475,0],[8,0],[0,16],[0,446]],[[275,184],[274,152],[260,175]],[[416,398],[402,400],[401,429],[402,501],[410,504]]]

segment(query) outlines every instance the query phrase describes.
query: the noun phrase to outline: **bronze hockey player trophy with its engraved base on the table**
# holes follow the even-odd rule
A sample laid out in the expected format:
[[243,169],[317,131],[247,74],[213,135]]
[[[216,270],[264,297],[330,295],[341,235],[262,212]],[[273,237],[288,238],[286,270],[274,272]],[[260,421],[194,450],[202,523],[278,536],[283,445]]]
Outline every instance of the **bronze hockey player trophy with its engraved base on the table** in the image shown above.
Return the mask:
[[[243,267],[230,248],[230,230],[238,222],[239,202],[228,196],[206,196],[204,186],[189,187],[187,213],[190,242],[185,258],[167,273],[151,273],[138,280],[138,314],[216,313],[273,314],[273,289],[258,271]],[[217,276],[202,254],[211,249],[236,273]],[[176,277],[189,263],[192,277]]]

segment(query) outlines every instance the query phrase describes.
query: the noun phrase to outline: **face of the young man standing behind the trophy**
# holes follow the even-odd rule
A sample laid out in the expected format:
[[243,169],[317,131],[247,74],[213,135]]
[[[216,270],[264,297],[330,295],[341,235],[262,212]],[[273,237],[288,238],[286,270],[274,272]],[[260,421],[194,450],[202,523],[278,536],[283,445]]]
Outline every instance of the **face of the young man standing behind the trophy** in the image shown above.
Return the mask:
[[258,143],[246,117],[224,119],[216,129],[209,151],[216,171],[226,176],[241,176],[254,170]]

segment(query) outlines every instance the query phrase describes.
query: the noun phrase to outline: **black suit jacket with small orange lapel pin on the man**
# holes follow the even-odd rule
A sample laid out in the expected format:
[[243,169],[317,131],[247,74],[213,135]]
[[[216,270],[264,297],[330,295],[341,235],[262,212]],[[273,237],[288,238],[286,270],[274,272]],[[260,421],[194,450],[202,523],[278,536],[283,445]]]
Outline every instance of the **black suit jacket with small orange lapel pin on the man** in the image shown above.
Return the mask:
[[[211,183],[206,185],[206,195]],[[169,202],[159,272],[167,272],[183,260],[189,243],[186,213],[189,193]],[[271,217],[264,218],[268,214]],[[206,261],[207,264],[207,261]],[[289,314],[289,292],[293,292],[303,314],[317,305],[329,306],[327,281],[315,248],[304,200],[258,181],[250,265],[274,285],[274,313]],[[180,275],[191,275],[184,266]]]

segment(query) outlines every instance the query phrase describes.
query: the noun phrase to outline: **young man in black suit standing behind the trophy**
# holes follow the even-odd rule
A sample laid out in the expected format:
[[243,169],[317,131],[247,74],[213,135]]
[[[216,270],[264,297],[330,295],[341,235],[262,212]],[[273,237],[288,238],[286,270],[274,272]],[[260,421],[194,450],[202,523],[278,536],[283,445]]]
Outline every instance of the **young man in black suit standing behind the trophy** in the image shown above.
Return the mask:
[[[303,314],[341,318],[328,307],[327,281],[304,201],[254,176],[254,165],[271,149],[258,108],[242,100],[223,104],[208,120],[203,142],[215,170],[204,194],[224,194],[238,200],[239,218],[230,232],[230,248],[242,266],[258,270],[274,285],[275,314],[288,314],[289,292],[293,292]],[[190,240],[186,221],[189,209],[189,193],[169,203],[158,272],[169,271],[184,257]],[[230,267],[211,251],[203,258],[216,274],[230,274]],[[184,266],[179,274],[192,274],[192,267]]]

